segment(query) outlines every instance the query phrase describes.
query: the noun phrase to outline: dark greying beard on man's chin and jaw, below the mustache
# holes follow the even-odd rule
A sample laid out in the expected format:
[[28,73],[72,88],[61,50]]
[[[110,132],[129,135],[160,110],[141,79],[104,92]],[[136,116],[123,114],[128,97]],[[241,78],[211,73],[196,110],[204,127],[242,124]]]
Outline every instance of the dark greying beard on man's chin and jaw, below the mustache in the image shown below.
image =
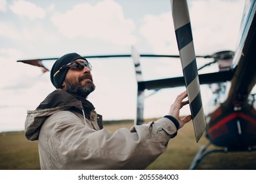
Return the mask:
[[87,96],[95,90],[95,84],[93,82],[81,84],[81,82],[72,82],[71,80],[66,79],[66,91],[78,95],[80,97]]

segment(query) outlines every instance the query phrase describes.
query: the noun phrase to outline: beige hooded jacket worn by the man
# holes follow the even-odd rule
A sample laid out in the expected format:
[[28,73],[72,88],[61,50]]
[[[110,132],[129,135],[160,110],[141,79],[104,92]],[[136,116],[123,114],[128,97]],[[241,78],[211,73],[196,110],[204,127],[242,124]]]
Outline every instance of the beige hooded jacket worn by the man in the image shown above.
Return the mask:
[[[56,93],[61,94],[56,97]],[[56,90],[45,101],[66,95],[70,94]],[[41,169],[145,169],[177,133],[168,118],[112,133],[100,129],[94,109],[88,120],[72,110],[83,110],[81,101],[75,97],[68,100],[52,108],[28,111],[25,134],[30,141],[39,140]]]

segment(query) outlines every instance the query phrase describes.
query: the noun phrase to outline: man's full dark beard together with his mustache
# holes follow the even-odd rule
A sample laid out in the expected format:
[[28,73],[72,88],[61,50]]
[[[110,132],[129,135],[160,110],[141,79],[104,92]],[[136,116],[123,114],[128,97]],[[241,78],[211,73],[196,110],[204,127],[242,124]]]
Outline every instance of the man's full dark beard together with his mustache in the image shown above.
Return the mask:
[[[86,80],[85,83],[82,84],[83,80],[85,79],[89,80]],[[93,84],[93,78],[91,75],[80,76],[76,82],[66,78],[65,82],[66,91],[80,97],[87,98],[87,96],[95,90],[95,84]]]

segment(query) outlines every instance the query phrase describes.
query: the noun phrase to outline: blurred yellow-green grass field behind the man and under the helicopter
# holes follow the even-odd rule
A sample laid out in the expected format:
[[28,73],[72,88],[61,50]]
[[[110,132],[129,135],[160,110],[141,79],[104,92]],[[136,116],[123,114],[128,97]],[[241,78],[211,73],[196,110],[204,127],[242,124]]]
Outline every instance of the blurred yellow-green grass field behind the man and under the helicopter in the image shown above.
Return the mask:
[[[130,128],[132,125],[133,122],[131,120],[124,120],[121,122],[108,122],[104,127],[109,131],[115,131],[120,127]],[[169,141],[167,150],[147,169],[188,169],[200,146],[204,144],[207,144],[207,139],[203,136],[196,143],[192,123],[187,124],[179,130],[177,137]],[[23,131],[0,133],[0,169],[40,169],[37,141],[27,141]],[[255,170],[256,152],[209,154],[196,169]]]

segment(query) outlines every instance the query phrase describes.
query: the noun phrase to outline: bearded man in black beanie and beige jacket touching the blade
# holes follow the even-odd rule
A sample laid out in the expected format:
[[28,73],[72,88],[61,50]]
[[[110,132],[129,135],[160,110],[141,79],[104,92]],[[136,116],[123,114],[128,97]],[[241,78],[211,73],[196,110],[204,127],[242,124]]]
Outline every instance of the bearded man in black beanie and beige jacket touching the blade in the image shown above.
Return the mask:
[[191,115],[179,118],[188,104],[183,101],[186,92],[160,120],[111,133],[103,129],[101,116],[86,99],[95,90],[91,69],[76,53],[57,59],[51,69],[57,90],[28,111],[25,133],[28,140],[39,141],[41,169],[145,169],[191,120]]

